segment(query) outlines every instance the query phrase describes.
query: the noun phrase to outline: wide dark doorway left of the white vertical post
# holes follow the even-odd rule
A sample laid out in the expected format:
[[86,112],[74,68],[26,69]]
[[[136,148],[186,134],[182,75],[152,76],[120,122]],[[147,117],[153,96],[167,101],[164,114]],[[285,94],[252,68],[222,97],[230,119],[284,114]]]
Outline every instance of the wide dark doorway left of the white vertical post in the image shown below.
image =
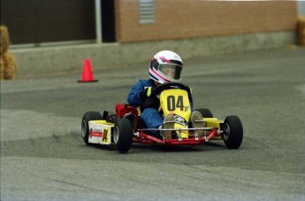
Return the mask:
[[95,40],[95,0],[1,0],[1,24],[12,44]]

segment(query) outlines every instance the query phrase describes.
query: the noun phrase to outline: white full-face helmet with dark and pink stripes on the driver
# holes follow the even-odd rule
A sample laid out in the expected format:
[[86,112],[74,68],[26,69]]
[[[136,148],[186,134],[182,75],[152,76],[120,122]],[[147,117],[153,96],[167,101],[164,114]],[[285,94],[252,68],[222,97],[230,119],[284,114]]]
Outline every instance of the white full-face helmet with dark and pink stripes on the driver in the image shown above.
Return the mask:
[[182,59],[173,51],[163,50],[151,58],[149,76],[154,81],[163,84],[167,81],[181,81]]

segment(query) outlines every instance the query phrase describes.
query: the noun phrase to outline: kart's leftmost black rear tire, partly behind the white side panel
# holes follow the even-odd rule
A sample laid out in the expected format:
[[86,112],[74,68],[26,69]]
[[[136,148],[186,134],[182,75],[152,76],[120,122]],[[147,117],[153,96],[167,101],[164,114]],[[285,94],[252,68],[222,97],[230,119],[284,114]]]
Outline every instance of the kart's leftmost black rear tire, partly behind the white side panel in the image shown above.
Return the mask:
[[89,145],[89,121],[90,120],[102,120],[102,115],[100,112],[86,112],[81,120],[81,136],[84,142]]

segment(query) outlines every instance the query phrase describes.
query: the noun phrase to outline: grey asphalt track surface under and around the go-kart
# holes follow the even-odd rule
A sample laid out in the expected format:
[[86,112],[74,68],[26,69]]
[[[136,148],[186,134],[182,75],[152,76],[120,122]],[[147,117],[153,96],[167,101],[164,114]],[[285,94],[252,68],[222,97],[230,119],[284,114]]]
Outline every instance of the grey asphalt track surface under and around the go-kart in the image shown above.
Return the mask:
[[[183,57],[183,55],[181,55]],[[240,117],[239,150],[87,146],[84,112],[114,111],[148,64],[1,81],[1,200],[305,200],[305,49],[185,61],[194,106]]]

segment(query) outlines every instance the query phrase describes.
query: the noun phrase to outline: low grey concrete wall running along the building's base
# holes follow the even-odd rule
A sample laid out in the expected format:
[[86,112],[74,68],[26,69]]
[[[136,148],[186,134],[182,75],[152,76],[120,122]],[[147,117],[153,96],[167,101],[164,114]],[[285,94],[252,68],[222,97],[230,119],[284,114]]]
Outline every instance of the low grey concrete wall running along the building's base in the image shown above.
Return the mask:
[[129,66],[149,59],[159,50],[176,51],[181,58],[210,57],[249,50],[268,50],[294,44],[293,31],[195,38],[147,43],[102,43],[11,50],[18,76],[80,71],[85,58],[94,69]]

